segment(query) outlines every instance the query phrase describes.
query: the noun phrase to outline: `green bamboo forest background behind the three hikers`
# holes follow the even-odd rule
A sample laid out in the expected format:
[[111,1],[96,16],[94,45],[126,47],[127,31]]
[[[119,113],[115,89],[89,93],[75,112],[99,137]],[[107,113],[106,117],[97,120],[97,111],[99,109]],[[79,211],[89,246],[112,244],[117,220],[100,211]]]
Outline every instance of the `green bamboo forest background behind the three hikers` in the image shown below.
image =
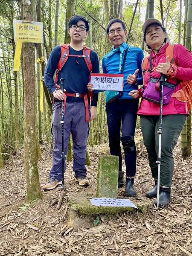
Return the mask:
[[[24,122],[27,122],[27,115],[30,115],[29,109],[26,119],[24,118],[24,100],[26,99],[23,97],[23,84],[26,65],[30,68],[32,64],[30,63],[32,51],[28,51],[24,56],[22,52],[19,72],[12,71],[15,53],[13,19],[25,18],[22,6],[24,2],[24,0],[0,0],[0,168],[10,154],[23,146],[23,126]],[[90,21],[89,36],[84,43],[98,53],[100,72],[102,72],[102,57],[111,49],[105,33],[105,27],[111,18],[119,17],[125,22],[128,29],[126,40],[132,46],[144,49],[141,28],[143,21],[148,17],[155,17],[162,21],[172,44],[185,45],[187,7],[191,8],[192,5],[191,0],[189,2],[188,0],[150,0],[150,3],[147,0],[32,0],[31,2],[33,3],[33,20],[42,21],[44,27],[44,44],[35,46],[32,44],[36,49],[36,75],[34,76],[33,72],[30,73],[30,69],[28,73],[29,81],[36,81],[37,117],[35,119],[38,131],[36,141],[43,143],[43,149],[51,143],[52,99],[44,81],[43,98],[40,99],[40,84],[51,50],[56,45],[70,40],[67,23],[72,15],[81,14]],[[188,22],[191,23],[191,20],[190,15]],[[189,38],[188,49],[191,47],[191,35]],[[29,95],[29,99],[31,96]],[[139,125],[138,119],[137,128]],[[90,122],[89,144],[93,146],[107,140],[105,93],[99,93],[97,117]]]

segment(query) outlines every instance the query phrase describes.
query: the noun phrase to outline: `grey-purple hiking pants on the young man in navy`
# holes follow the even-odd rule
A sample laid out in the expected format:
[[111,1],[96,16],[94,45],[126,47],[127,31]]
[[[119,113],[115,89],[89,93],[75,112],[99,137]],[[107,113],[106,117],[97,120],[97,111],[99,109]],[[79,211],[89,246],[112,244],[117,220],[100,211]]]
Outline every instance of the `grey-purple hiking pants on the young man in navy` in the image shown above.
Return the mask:
[[[52,169],[50,178],[62,179],[62,126],[61,126],[61,103],[55,102],[52,107]],[[90,114],[90,113],[89,113]],[[73,139],[73,171],[75,177],[86,175],[87,137],[89,134],[89,122],[85,122],[84,102],[66,102],[64,116],[64,154],[67,155],[67,145],[70,132]],[[66,160],[66,159],[65,159]],[[64,164],[64,170],[66,164]]]

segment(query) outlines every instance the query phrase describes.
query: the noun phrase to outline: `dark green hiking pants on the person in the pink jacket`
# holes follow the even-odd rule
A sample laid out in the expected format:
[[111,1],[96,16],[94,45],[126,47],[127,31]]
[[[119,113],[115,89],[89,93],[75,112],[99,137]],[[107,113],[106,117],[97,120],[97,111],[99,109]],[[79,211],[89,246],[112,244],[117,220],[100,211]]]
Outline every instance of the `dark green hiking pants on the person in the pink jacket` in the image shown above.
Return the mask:
[[[148,152],[148,161],[152,177],[157,179],[158,165],[156,163],[159,151],[159,116],[140,115],[143,141]],[[180,132],[185,124],[186,115],[163,115],[161,136],[160,185],[172,185],[174,170],[173,150],[177,144]]]

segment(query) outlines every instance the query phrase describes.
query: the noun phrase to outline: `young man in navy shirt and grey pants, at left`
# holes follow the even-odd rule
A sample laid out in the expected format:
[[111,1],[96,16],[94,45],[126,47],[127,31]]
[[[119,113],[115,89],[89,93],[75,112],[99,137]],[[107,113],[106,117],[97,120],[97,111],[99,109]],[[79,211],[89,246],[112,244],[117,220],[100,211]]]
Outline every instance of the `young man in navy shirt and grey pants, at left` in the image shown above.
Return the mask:
[[[89,134],[89,122],[86,121],[84,95],[87,94],[90,71],[83,55],[83,41],[88,35],[89,23],[84,16],[75,15],[70,18],[68,27],[68,33],[71,38],[70,45],[68,46],[69,55],[66,63],[58,72],[57,80],[57,85],[59,86],[60,79],[65,79],[64,89],[67,95],[64,116],[64,153],[65,155],[67,154],[67,145],[71,132],[73,139],[73,171],[80,186],[89,186],[90,181],[86,176],[87,170],[84,165]],[[61,47],[57,46],[49,56],[44,73],[45,84],[55,99],[52,113],[52,169],[49,172],[49,181],[44,186],[44,190],[51,190],[62,184],[62,129],[60,121],[61,102],[64,100],[64,92],[55,87],[53,80],[60,58]],[[90,51],[90,61],[92,72],[99,73],[98,55],[93,50]],[[98,93],[93,93],[92,98],[91,102],[89,98],[89,104],[91,105],[89,109],[90,120],[96,117]]]

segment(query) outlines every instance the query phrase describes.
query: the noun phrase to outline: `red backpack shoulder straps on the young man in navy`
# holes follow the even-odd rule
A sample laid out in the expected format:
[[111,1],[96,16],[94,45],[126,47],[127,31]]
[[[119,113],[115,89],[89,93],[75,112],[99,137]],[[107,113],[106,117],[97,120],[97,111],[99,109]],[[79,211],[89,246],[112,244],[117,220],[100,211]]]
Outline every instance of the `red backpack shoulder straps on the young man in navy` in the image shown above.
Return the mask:
[[92,64],[91,64],[91,60],[90,60],[90,51],[91,51],[91,49],[84,45],[83,46],[83,55],[72,55],[72,54],[69,54],[69,46],[70,46],[70,44],[61,44],[61,58],[60,58],[60,60],[58,62],[58,65],[57,65],[55,85],[56,85],[57,80],[58,80],[58,73],[61,71],[61,68],[64,66],[68,57],[70,57],[70,56],[77,57],[76,62],[78,64],[79,64],[78,58],[83,57],[85,63],[87,64],[89,72],[91,73],[91,71],[92,71]]

